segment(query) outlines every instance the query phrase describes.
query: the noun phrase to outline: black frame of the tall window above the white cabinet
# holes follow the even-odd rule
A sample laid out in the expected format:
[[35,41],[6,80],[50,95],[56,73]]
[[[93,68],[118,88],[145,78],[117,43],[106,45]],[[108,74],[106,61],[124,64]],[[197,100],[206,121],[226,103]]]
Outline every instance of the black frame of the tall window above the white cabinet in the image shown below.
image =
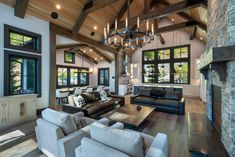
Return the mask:
[[[15,51],[4,51],[4,96],[10,96],[13,94],[10,94],[10,59],[11,57],[19,57],[19,58],[25,58],[25,59],[33,59],[36,61],[36,67],[35,67],[35,93],[38,96],[41,97],[41,56],[39,55],[32,55],[32,54],[26,54],[26,53],[20,53]],[[14,94],[14,95],[26,95],[29,93],[22,93],[22,94]]]

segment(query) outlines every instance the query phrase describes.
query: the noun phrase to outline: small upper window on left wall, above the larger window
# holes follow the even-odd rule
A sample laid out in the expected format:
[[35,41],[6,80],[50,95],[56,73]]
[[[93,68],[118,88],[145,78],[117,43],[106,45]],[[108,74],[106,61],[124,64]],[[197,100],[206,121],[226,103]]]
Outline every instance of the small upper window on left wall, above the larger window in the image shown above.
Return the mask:
[[41,35],[4,25],[5,48],[41,53]]

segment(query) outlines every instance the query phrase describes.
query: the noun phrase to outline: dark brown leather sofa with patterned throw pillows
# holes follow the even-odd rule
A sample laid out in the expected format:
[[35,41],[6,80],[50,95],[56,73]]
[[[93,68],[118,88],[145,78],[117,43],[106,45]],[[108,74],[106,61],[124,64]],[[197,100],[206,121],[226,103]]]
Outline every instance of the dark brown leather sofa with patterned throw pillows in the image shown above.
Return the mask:
[[[98,92],[83,93],[81,96],[85,99],[86,105],[77,107],[74,102],[69,102],[67,105],[62,106],[62,110],[67,113],[84,112],[85,116],[92,118],[99,118],[100,115],[113,110],[117,105],[125,105],[125,97],[112,95],[106,91],[110,100],[101,101]],[[74,95],[70,95],[73,99]]]

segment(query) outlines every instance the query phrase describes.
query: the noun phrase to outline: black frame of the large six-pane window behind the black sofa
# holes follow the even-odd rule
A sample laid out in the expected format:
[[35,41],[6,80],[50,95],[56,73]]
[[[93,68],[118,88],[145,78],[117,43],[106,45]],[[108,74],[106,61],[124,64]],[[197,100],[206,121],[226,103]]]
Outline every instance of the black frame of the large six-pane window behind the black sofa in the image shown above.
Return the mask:
[[[182,48],[182,47],[187,47],[188,48],[188,57],[187,58],[174,58],[174,49],[175,48]],[[170,50],[170,59],[164,59],[164,60],[159,60],[158,59],[158,51],[160,50]],[[149,52],[149,51],[154,51],[155,52],[155,59],[153,61],[145,61],[144,60],[144,53]],[[154,64],[155,69],[158,68],[158,64],[161,63],[169,63],[170,64],[170,81],[169,82],[158,82],[158,75],[154,77],[154,82],[153,83],[159,83],[159,84],[190,84],[191,83],[191,45],[186,44],[186,45],[177,45],[177,46],[172,46],[172,47],[164,47],[164,48],[158,48],[158,49],[150,49],[150,50],[144,50],[142,51],[142,72],[144,71],[144,65],[145,64]],[[171,73],[174,68],[174,63],[178,62],[187,62],[188,63],[188,82],[187,83],[175,83],[174,82],[174,75]],[[144,73],[142,73],[142,83],[149,83],[149,82],[144,82]]]

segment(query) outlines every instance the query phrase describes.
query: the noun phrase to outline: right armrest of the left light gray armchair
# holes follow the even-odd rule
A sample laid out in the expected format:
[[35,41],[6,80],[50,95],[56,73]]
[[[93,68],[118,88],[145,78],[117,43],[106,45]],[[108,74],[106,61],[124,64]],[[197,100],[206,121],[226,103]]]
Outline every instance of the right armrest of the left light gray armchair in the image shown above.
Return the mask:
[[89,135],[82,130],[78,130],[60,139],[58,141],[60,157],[75,157],[74,150],[81,145],[81,140],[84,137],[89,137]]

